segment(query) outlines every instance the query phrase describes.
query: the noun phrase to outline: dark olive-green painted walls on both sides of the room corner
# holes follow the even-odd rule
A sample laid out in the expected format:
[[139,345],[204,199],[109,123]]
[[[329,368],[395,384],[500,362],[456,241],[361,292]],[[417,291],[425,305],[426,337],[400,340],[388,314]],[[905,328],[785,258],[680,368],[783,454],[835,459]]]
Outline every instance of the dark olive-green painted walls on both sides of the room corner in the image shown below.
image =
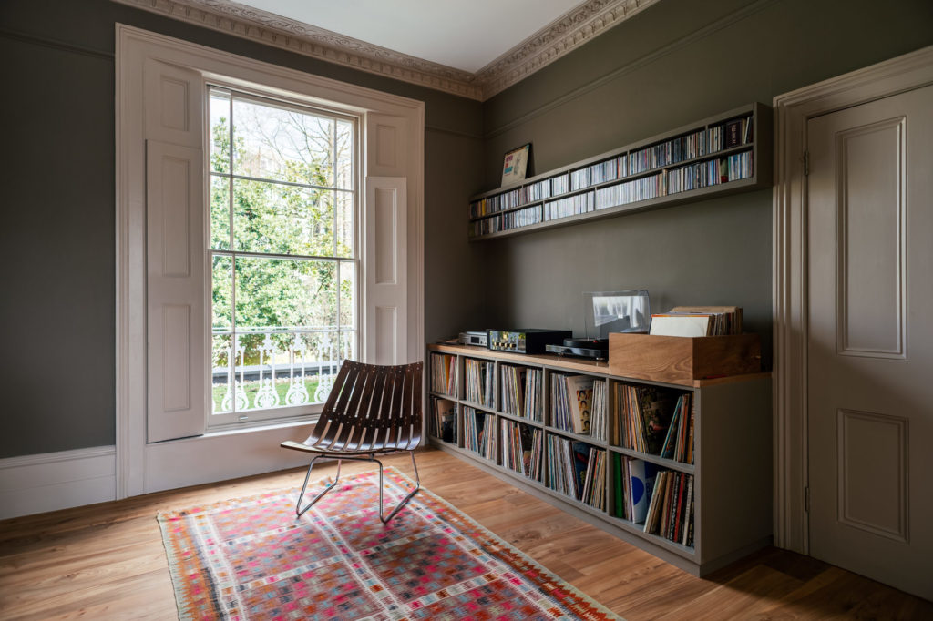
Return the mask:
[[[698,7],[702,6],[702,10]],[[933,3],[661,0],[485,104],[107,0],[0,2],[0,458],[114,443],[114,24],[425,101],[425,332],[582,330],[580,292],[736,303],[771,338],[771,193],[466,242],[508,148],[536,170],[933,43]]]

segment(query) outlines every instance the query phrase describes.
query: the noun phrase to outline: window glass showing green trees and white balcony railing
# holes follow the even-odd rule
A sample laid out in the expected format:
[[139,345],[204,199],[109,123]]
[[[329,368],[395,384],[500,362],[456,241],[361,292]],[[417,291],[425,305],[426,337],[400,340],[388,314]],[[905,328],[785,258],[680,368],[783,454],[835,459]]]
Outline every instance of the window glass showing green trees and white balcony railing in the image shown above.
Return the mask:
[[212,418],[303,415],[359,341],[357,124],[235,90],[209,101]]

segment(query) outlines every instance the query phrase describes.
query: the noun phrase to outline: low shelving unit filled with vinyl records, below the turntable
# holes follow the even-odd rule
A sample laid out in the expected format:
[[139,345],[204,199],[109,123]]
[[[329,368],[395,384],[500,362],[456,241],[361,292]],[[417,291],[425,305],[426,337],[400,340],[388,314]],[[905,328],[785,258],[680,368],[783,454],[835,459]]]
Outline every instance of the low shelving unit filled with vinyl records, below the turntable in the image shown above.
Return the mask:
[[[439,449],[695,575],[770,543],[770,374],[654,381],[550,354],[429,345],[427,355]],[[592,391],[582,426],[568,409],[581,387]],[[676,412],[660,444],[636,420],[650,403]],[[634,506],[648,473],[662,496]]]

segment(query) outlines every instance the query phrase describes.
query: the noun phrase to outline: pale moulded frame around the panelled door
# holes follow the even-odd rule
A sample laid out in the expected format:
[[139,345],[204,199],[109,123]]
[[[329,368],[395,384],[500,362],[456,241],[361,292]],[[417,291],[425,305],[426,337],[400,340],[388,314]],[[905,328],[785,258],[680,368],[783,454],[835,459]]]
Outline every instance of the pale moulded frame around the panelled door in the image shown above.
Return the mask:
[[807,121],[933,84],[933,46],[778,95],[774,108],[774,545],[809,554]]

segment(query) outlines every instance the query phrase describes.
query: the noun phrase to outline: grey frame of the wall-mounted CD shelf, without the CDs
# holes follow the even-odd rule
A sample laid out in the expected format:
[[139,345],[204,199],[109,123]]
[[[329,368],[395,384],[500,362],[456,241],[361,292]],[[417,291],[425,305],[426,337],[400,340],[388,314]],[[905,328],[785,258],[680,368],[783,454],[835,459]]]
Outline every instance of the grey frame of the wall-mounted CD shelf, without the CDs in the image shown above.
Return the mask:
[[[691,135],[697,131],[703,131],[708,135],[711,129],[721,127],[724,123],[733,119],[742,118],[750,118],[752,123],[751,139],[747,143],[731,146],[728,148],[720,148],[716,151],[710,151],[708,148],[706,148],[704,149],[704,153],[702,155],[695,155],[694,157],[690,158],[678,159],[677,161],[648,168],[647,170],[640,170],[637,173],[627,173],[623,176],[616,176],[612,179],[601,180],[598,183],[592,183],[572,189],[568,186],[566,191],[559,193],[550,191],[550,196],[548,198],[540,198],[536,200],[519,199],[515,201],[515,204],[509,203],[507,207],[498,208],[495,211],[486,214],[473,213],[479,209],[478,206],[481,200],[490,200],[495,199],[496,197],[501,199],[502,197],[507,196],[509,193],[516,191],[521,193],[523,189],[527,190],[533,188],[536,186],[536,184],[541,182],[548,182],[549,180],[551,186],[555,186],[556,184],[553,180],[560,179],[564,174],[572,174],[576,171],[586,169],[592,164],[598,164],[607,160],[626,157],[630,154],[639,152],[644,148],[651,147],[653,145],[661,145],[667,143],[668,141]],[[542,228],[564,227],[593,219],[614,217],[620,214],[632,214],[649,209],[668,207],[678,203],[695,202],[697,200],[710,199],[717,196],[724,196],[738,192],[748,192],[771,187],[773,172],[772,133],[771,107],[766,104],[759,103],[747,104],[742,107],[729,110],[728,112],[716,115],[715,117],[704,118],[702,120],[696,121],[695,123],[690,123],[689,125],[679,127],[673,131],[666,131],[631,145],[625,145],[620,148],[607,151],[606,153],[593,156],[592,158],[582,159],[547,173],[537,174],[534,177],[525,179],[520,184],[499,187],[488,192],[483,192],[470,198],[470,206],[467,210],[467,230],[469,239],[471,241],[492,240],[501,237],[530,233]],[[554,200],[592,194],[593,201],[595,202],[595,196],[597,192],[606,188],[611,188],[612,186],[620,186],[621,184],[627,184],[629,182],[646,180],[654,175],[666,175],[667,173],[682,169],[687,166],[692,166],[695,164],[702,165],[713,160],[729,158],[730,156],[737,156],[741,154],[750,154],[751,156],[750,173],[744,178],[739,178],[724,183],[717,183],[715,185],[680,190],[676,192],[670,191],[668,189],[664,190],[661,195],[652,198],[619,202],[617,204],[606,205],[601,209],[592,209],[583,213],[566,215],[560,218],[546,219],[545,216],[547,203]],[[508,214],[522,212],[523,210],[529,210],[530,212],[535,213],[536,216],[532,219],[537,219],[539,221],[533,224],[516,226],[514,228],[504,227],[504,220],[502,219],[504,216],[508,217]],[[529,217],[532,215],[533,214],[529,214]],[[498,219],[499,221],[498,230],[491,230],[489,232],[480,232],[480,230],[478,230],[482,228],[495,228],[493,222],[495,219]]]

